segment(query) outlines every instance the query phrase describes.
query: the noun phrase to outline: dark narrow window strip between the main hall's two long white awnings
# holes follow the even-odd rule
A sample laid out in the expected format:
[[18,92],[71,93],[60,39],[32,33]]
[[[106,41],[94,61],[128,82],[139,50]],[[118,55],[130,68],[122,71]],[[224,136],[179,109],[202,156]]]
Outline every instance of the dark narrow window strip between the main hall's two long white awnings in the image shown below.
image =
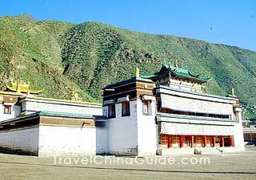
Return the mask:
[[202,112],[182,112],[182,111],[172,110],[169,108],[161,108],[160,112],[175,114],[175,115],[195,115],[195,116],[203,116],[203,117],[230,119],[230,115],[209,114],[209,113],[202,113]]

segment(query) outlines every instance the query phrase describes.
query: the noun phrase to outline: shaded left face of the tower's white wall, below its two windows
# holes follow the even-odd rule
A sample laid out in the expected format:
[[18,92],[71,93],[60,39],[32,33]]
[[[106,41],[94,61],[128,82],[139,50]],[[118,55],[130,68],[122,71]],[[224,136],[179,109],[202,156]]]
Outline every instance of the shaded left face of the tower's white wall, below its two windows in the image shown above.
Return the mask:
[[109,152],[115,155],[138,155],[136,101],[130,101],[130,116],[122,117],[122,104],[116,104],[116,118],[108,119]]

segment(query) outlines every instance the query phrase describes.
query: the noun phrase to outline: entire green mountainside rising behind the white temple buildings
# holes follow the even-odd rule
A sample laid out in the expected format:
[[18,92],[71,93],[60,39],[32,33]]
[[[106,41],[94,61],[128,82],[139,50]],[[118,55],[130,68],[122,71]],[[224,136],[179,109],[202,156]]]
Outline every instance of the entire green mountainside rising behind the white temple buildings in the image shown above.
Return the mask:
[[[36,22],[27,14],[0,18],[0,88],[22,76],[42,96],[68,98],[72,84],[83,100],[102,100],[106,84],[173,63],[211,76],[207,92],[234,88],[250,117],[256,106],[256,52],[183,37],[138,33],[98,22]],[[249,116],[248,116],[249,117]]]

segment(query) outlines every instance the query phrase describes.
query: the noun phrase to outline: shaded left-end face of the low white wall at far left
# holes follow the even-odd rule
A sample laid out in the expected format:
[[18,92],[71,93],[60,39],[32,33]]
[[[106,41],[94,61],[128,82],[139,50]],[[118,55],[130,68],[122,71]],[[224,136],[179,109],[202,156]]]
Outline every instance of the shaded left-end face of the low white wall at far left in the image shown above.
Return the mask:
[[0,131],[0,147],[11,151],[24,151],[38,154],[38,127],[24,127]]

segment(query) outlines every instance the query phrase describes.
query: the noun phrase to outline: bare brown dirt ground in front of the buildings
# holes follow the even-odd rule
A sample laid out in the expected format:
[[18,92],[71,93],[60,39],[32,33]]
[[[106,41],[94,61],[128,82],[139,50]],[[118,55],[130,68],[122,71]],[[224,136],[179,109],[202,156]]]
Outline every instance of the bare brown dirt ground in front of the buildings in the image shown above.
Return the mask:
[[[111,162],[111,163],[110,163]],[[256,179],[256,147],[221,155],[52,157],[0,154],[0,179]]]

